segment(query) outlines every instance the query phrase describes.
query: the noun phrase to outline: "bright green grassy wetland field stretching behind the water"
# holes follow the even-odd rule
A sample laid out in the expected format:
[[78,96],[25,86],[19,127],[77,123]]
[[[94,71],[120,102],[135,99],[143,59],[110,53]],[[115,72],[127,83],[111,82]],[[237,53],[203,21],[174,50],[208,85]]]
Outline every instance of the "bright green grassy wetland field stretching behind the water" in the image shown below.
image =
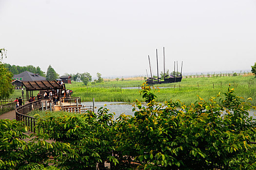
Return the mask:
[[[144,81],[142,80],[124,80],[107,81],[96,85],[85,86],[81,82],[72,82],[71,85],[66,85],[66,88],[74,91],[73,96],[81,97],[84,102],[134,102],[136,99],[142,101],[139,95],[138,88],[122,89],[122,87],[138,87]],[[235,94],[245,99],[251,97],[253,105],[256,105],[256,78],[254,76],[236,76],[236,77],[199,77],[182,79],[179,83],[161,84],[157,95],[158,102],[169,100],[180,100],[186,104],[197,101],[198,96],[203,99],[209,99],[221,92],[227,91],[229,84],[235,88]]]

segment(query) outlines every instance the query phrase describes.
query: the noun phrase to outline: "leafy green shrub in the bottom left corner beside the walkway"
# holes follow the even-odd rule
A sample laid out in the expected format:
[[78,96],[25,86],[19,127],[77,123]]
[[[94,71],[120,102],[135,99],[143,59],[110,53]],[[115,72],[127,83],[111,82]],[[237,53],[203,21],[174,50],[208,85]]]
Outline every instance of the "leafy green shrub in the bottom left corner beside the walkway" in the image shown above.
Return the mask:
[[26,132],[27,127],[21,122],[0,120],[1,170],[41,170],[48,166],[49,156],[59,155],[63,149],[69,148],[68,144],[47,142],[47,135],[28,136]]

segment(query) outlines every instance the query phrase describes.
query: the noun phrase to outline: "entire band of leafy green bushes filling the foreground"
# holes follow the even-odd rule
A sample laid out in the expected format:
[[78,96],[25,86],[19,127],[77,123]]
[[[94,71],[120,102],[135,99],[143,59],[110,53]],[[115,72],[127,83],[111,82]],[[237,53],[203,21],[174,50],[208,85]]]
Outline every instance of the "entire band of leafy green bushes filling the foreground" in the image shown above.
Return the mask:
[[220,93],[207,101],[198,96],[191,105],[157,103],[157,92],[142,85],[145,103],[136,100],[134,117],[114,119],[101,107],[98,113],[39,119],[56,141],[51,144],[43,134],[26,143],[20,122],[0,120],[0,168],[39,169],[53,156],[61,169],[104,169],[104,162],[111,170],[256,169],[256,123],[248,114],[251,105],[234,89],[224,99]]

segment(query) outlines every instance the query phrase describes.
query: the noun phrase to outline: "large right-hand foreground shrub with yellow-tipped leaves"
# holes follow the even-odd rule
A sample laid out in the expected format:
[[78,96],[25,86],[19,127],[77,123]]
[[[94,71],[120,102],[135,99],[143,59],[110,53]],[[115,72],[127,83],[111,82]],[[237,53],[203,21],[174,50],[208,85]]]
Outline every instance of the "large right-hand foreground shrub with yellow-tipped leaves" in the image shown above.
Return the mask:
[[[155,103],[150,87],[142,86],[147,106],[136,102],[135,117],[122,115],[115,128],[117,151],[130,155],[144,169],[256,169],[256,124],[249,103],[228,89],[222,106],[212,97],[186,106]],[[218,97],[218,95],[217,95]],[[250,99],[249,99],[250,100]],[[181,106],[177,107],[177,106]]]

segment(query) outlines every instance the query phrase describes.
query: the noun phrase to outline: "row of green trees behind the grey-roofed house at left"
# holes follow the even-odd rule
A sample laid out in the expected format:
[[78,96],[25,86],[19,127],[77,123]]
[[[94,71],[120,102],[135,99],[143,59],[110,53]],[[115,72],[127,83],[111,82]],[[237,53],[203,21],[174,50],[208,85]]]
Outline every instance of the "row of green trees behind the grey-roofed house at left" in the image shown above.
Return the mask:
[[32,65],[29,65],[29,66],[15,66],[15,65],[10,65],[10,64],[4,64],[5,68],[8,68],[9,71],[11,71],[13,74],[20,74],[22,73],[23,71],[29,71],[29,72],[32,72],[32,73],[36,73],[36,74],[39,74],[40,76],[43,76],[45,77],[45,72],[43,72],[41,70],[41,68],[38,67],[34,67]]

